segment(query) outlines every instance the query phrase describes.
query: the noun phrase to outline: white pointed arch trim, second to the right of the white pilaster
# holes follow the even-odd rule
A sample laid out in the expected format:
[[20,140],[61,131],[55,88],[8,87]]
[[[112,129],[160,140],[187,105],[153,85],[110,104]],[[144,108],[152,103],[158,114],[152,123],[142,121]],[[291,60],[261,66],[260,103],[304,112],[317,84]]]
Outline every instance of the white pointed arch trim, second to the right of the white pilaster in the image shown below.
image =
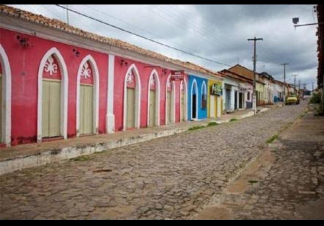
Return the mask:
[[156,109],[156,115],[155,115],[155,123],[156,126],[160,125],[160,80],[159,76],[157,74],[157,71],[153,69],[153,71],[150,74],[150,77],[148,78],[148,91],[147,91],[147,126],[149,124],[149,119],[150,119],[150,81],[151,77],[154,76],[154,79],[156,81],[155,85],[155,109]]

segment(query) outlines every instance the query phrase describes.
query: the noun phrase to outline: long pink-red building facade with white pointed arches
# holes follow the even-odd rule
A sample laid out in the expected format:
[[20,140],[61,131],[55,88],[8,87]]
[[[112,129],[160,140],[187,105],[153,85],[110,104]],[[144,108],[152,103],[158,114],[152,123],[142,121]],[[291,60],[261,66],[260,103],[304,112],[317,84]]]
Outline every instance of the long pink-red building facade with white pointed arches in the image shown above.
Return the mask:
[[[188,68],[1,16],[2,147],[187,120],[188,72],[171,81],[171,70]],[[133,126],[127,125],[128,89]]]

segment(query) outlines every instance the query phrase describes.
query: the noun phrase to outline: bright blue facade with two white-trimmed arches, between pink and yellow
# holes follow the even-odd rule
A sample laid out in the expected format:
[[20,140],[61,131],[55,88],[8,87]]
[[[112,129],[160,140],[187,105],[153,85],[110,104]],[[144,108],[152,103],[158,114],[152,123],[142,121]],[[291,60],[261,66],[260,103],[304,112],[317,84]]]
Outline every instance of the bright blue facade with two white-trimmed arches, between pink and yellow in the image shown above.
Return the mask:
[[208,80],[194,75],[188,80],[188,120],[206,119]]

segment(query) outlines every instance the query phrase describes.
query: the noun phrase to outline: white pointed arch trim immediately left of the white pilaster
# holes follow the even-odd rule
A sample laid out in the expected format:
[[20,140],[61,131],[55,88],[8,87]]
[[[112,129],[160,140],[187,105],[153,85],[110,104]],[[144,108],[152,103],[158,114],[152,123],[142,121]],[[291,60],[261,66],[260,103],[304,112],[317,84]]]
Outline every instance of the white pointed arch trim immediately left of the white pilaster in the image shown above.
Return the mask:
[[86,62],[90,63],[93,72],[93,130],[92,132],[98,134],[99,126],[99,70],[96,61],[89,54],[83,58],[80,63],[76,78],[76,136],[80,135],[80,80],[83,65]]

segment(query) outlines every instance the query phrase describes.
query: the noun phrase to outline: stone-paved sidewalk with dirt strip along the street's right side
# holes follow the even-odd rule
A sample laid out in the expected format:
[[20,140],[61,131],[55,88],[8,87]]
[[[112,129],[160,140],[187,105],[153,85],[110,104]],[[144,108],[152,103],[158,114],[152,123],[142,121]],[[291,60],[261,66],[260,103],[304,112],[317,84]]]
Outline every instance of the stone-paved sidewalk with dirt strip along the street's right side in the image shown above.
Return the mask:
[[197,218],[323,220],[324,119],[314,114],[282,132]]

